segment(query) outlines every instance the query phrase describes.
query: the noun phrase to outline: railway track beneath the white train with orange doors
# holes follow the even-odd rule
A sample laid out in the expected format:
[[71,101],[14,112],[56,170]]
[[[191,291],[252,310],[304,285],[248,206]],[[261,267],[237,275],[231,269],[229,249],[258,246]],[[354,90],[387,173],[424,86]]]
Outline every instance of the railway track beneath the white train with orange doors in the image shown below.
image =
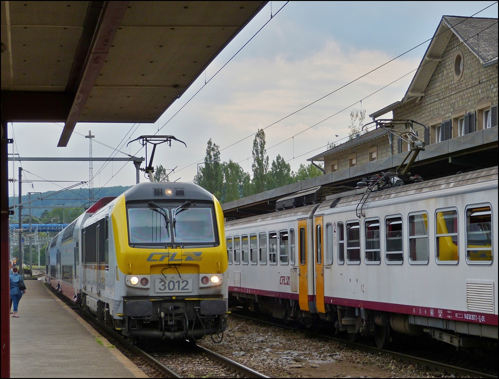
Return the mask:
[[[247,319],[247,320],[251,320],[253,322],[261,323],[264,325],[271,325],[271,326],[282,328],[282,329],[288,329],[288,330],[295,329],[295,328],[288,327],[285,325],[276,324],[273,322],[269,322],[269,321],[262,320],[262,319],[257,319],[257,318],[250,317],[247,315],[237,314],[234,312],[231,314],[231,317],[238,317],[238,318],[242,318],[242,319]],[[373,346],[369,346],[369,345],[357,343],[357,342],[354,343],[354,342],[350,342],[349,340],[345,340],[345,339],[341,339],[341,338],[337,338],[337,337],[331,337],[331,336],[317,334],[317,333],[308,332],[308,331],[304,331],[304,334],[309,336],[309,337],[313,337],[313,338],[320,338],[320,339],[327,340],[327,341],[338,342],[338,343],[341,343],[341,344],[343,344],[351,349],[360,350],[360,351],[364,351],[364,352],[372,353],[372,354],[381,354],[381,355],[391,357],[391,358],[393,358],[397,361],[400,361],[400,362],[405,362],[405,363],[409,363],[409,364],[413,364],[413,365],[419,365],[422,368],[438,370],[446,375],[456,375],[456,376],[464,376],[464,377],[469,376],[469,377],[473,377],[473,378],[498,378],[496,375],[481,373],[478,371],[469,370],[469,369],[458,367],[458,366],[448,365],[448,364],[428,360],[428,359],[413,356],[413,355],[402,354],[402,353],[391,351],[391,350],[382,350],[382,349],[378,349],[378,348],[373,347]]]

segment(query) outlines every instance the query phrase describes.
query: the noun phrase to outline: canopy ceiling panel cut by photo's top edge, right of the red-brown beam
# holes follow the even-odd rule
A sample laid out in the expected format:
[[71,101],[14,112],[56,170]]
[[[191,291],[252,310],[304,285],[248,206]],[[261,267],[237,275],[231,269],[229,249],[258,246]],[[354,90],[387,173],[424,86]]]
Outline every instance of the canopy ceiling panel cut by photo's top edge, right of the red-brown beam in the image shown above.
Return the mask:
[[122,26],[241,27],[261,1],[130,1]]

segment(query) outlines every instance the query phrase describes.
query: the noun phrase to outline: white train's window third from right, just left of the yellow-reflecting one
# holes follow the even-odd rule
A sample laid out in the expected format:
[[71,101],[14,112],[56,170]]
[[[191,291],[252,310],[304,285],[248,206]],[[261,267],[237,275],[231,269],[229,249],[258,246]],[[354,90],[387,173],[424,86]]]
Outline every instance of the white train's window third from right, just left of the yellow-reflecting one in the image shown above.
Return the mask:
[[427,264],[428,255],[428,214],[409,214],[409,263]]

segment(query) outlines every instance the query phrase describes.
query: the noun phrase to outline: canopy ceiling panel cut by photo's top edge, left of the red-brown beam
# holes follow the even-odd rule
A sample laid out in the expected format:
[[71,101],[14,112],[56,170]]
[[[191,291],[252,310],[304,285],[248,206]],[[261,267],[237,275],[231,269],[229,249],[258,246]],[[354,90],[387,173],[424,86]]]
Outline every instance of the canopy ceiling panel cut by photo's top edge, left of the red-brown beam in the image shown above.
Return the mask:
[[88,3],[89,1],[9,1],[10,24],[83,26]]

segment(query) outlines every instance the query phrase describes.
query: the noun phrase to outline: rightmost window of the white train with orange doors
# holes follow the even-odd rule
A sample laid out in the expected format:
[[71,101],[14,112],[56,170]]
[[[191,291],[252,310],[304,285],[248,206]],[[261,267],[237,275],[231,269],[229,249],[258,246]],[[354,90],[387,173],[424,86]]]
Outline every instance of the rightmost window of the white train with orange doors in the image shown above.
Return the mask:
[[488,204],[466,208],[466,261],[492,264],[492,211]]

